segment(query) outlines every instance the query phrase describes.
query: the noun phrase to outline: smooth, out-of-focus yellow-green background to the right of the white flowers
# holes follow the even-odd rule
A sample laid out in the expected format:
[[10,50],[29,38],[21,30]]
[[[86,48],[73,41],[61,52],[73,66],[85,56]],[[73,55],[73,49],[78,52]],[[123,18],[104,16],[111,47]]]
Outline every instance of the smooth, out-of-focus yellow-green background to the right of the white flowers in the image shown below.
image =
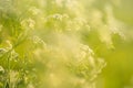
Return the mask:
[[[98,78],[98,88],[133,88],[133,1],[132,0],[95,0],[96,9],[103,11],[104,7],[112,6],[113,16],[124,23],[127,28],[124,33],[126,40],[121,38],[117,34],[112,35],[114,48],[109,50],[104,44],[98,42],[99,36],[91,35],[91,46],[95,53],[106,61],[108,65]],[[103,12],[104,13],[104,12]],[[105,16],[105,15],[104,15]],[[122,26],[122,29],[124,29]],[[89,42],[90,43],[90,42]],[[98,48],[96,48],[98,47]]]

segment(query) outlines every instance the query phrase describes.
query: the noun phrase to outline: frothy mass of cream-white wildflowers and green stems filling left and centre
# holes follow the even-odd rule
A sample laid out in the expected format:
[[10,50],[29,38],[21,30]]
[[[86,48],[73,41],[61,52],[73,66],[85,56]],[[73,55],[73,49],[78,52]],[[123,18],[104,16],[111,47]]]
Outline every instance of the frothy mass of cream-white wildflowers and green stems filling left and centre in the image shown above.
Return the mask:
[[0,0],[0,88],[96,88],[113,38],[133,38],[121,2]]

